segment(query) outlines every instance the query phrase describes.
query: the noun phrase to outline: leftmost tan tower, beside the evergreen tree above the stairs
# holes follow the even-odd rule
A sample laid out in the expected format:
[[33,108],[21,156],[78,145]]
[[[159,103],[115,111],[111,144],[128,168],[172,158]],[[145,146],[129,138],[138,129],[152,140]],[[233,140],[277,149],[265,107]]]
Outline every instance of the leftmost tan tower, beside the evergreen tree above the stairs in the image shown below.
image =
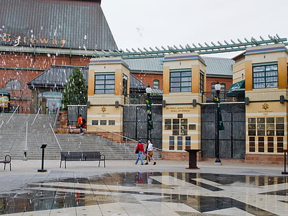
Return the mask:
[[92,58],[88,70],[88,131],[123,134],[130,71],[121,58]]

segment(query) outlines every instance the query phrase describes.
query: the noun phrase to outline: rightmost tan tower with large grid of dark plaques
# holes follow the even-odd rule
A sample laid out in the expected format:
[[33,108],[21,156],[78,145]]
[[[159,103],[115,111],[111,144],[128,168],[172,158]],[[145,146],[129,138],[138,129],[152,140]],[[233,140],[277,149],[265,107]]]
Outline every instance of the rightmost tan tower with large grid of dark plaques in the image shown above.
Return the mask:
[[[287,49],[248,48],[234,66],[234,82],[245,76],[247,163],[283,163],[287,149]],[[241,75],[240,75],[241,74]]]

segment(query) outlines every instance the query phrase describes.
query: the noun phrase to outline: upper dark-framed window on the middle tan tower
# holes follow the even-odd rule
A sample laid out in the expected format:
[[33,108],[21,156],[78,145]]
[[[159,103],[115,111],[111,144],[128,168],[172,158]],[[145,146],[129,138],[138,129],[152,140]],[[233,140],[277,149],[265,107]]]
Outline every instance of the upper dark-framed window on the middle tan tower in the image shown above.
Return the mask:
[[191,92],[191,69],[170,71],[170,92]]

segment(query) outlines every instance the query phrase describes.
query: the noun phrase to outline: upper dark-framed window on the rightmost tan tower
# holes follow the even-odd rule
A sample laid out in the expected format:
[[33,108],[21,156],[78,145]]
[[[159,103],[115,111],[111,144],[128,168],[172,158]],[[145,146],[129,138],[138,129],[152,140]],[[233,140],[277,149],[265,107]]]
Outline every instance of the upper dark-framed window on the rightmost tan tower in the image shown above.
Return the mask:
[[277,88],[278,87],[278,65],[253,67],[253,88]]

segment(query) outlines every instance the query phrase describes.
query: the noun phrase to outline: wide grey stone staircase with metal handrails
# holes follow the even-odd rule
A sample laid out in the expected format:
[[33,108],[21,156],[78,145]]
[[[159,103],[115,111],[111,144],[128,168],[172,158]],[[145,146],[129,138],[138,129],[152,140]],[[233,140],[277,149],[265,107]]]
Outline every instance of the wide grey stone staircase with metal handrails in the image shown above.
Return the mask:
[[[0,159],[10,154],[12,159],[41,159],[45,144],[45,159],[60,160],[60,152],[99,151],[108,160],[136,160],[136,143],[116,143],[92,134],[53,134],[56,115],[0,114]],[[57,138],[57,139],[56,139]],[[27,140],[27,142],[26,142]],[[57,141],[58,140],[58,141]],[[61,150],[61,149],[62,150]],[[156,160],[160,154],[155,154]]]

